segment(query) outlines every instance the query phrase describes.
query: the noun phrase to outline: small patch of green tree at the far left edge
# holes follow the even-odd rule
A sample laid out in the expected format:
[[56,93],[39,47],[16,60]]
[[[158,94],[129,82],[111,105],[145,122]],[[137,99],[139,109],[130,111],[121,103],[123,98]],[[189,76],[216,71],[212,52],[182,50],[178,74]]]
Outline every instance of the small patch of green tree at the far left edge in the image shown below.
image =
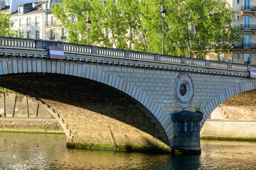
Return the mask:
[[7,14],[5,11],[0,11],[0,36],[18,37],[18,31],[11,29],[14,23],[11,22],[10,18],[10,14]]

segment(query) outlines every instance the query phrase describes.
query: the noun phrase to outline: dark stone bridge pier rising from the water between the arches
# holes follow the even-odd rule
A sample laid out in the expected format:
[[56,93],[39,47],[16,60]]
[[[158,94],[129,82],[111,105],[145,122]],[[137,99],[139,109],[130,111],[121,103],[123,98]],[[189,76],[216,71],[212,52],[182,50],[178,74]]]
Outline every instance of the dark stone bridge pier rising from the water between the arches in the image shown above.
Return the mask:
[[201,113],[180,111],[172,115],[174,122],[174,147],[172,152],[196,154],[201,153],[200,146],[200,121]]

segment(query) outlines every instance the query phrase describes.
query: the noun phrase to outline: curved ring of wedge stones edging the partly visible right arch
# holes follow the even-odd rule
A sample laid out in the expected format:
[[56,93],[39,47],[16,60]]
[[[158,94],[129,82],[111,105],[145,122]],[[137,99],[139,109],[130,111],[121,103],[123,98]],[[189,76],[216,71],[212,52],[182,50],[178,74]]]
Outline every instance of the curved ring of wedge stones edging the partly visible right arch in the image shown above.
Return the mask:
[[206,122],[206,119],[209,117],[211,113],[217,108],[221,103],[223,103],[228,98],[231,98],[237,94],[241,94],[245,91],[251,91],[256,89],[256,81],[250,81],[243,84],[237,84],[228,89],[221,91],[217,96],[212,98],[206,106],[203,107],[203,120],[201,120],[201,128],[203,124]]

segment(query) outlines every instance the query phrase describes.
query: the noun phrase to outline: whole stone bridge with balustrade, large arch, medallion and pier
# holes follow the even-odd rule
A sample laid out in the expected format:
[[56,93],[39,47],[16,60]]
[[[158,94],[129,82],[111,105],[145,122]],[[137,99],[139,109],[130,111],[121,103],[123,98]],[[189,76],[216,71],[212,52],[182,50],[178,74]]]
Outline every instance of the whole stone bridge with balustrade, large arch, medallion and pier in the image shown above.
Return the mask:
[[70,147],[198,151],[210,113],[256,89],[247,64],[4,37],[0,56],[0,86],[44,103]]

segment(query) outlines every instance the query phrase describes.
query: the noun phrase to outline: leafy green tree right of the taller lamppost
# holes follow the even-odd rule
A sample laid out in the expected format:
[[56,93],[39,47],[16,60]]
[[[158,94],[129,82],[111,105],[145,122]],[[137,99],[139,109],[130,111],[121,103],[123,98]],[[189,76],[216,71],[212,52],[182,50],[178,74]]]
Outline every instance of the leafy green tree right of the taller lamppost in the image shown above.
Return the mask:
[[169,14],[166,34],[176,47],[176,54],[204,58],[213,49],[229,50],[233,42],[239,42],[240,27],[235,21],[233,9],[223,0],[166,0]]

